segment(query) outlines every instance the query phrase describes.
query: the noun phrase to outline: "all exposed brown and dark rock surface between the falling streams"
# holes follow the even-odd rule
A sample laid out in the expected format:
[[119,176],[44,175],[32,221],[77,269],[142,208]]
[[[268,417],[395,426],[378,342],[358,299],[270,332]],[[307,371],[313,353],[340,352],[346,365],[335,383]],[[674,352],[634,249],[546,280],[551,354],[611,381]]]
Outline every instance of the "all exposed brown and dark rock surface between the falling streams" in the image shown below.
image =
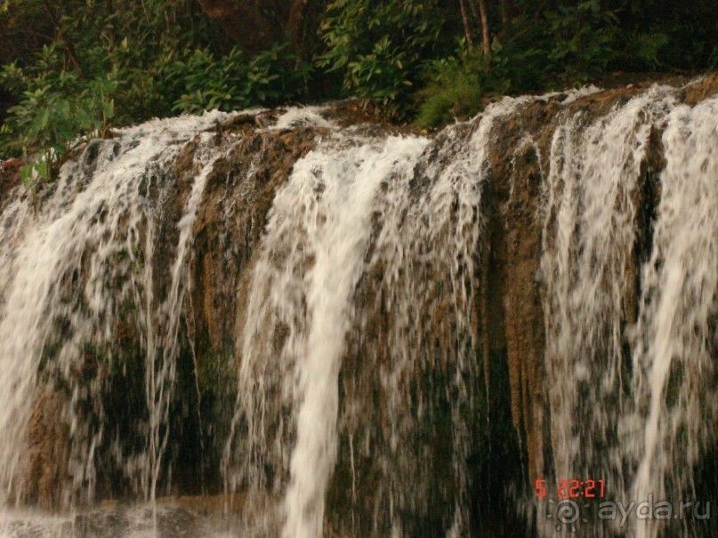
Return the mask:
[[[475,208],[476,219],[480,219],[478,244],[470,249],[477,253],[475,263],[462,262],[459,269],[453,260],[432,265],[431,256],[424,254],[431,248],[448,249],[450,239],[446,243],[437,239],[435,244],[426,245],[426,252],[417,246],[415,252],[407,247],[402,253],[408,260],[402,268],[414,271],[416,279],[415,287],[407,289],[426,293],[417,298],[419,306],[410,313],[414,325],[406,325],[406,320],[400,317],[396,308],[399,292],[394,293],[386,284],[387,271],[394,263],[391,253],[383,256],[375,252],[381,248],[376,240],[391,208],[373,215],[372,238],[365,256],[367,270],[351,293],[356,315],[347,335],[339,373],[339,449],[327,491],[326,520],[332,532],[362,536],[391,532],[391,518],[396,513],[390,514],[389,505],[383,500],[393,499],[397,505],[391,510],[399,513],[407,534],[444,533],[454,518],[456,490],[463,488],[465,495],[460,502],[468,507],[471,521],[464,522],[468,528],[504,536],[527,535],[515,502],[532,490],[536,479],[552,477],[558,459],[556,446],[552,445],[556,420],[552,410],[560,405],[556,400],[561,399],[561,394],[548,389],[555,381],[547,372],[550,357],[546,357],[553,322],[546,319],[545,305],[550,300],[547,293],[551,290],[547,289],[547,277],[542,274],[542,254],[559,240],[555,238],[559,210],[545,213],[546,207],[552,207],[546,204],[547,173],[552,166],[566,164],[550,161],[552,145],[557,143],[556,132],[567,119],[577,118],[582,128],[600,123],[611,110],[648,88],[648,84],[636,84],[577,97],[556,94],[527,99],[515,112],[494,118],[488,131],[486,163],[480,171],[484,178],[480,207]],[[716,91],[718,75],[707,76],[672,93],[672,106],[682,102],[693,106],[714,96]],[[339,107],[319,114],[341,123],[343,114],[351,116],[351,111],[343,113]],[[176,387],[168,400],[173,410],[165,424],[169,432],[168,449],[159,467],[160,484],[165,491],[175,494],[217,493],[225,486],[222,472],[227,457],[226,439],[230,433],[238,435],[237,431],[230,432],[230,428],[237,413],[237,372],[242,360],[238,342],[242,341],[247,301],[254,284],[252,270],[278,189],[286,185],[297,160],[331,135],[331,127],[311,122],[274,128],[277,116],[272,112],[235,116],[218,124],[209,131],[214,141],[198,135],[182,145],[171,165],[142,180],[147,183],[143,196],[157,215],[152,231],[156,246],[149,262],[152,294],[161,301],[173,293],[174,249],[182,233],[178,222],[202,169],[203,165],[198,163],[204,163],[198,161],[198,154],[207,151],[208,144],[214,144],[221,153],[213,161],[203,187],[191,228],[189,276],[186,283],[182,281],[182,289],[186,286],[187,293],[177,329]],[[448,169],[453,159],[471,144],[480,124],[481,117],[440,132],[428,142],[407,195],[412,204],[418,205],[428,196],[430,178],[437,173],[432,167],[440,172]],[[618,316],[619,325],[625,327],[636,323],[641,308],[641,267],[652,250],[653,227],[661,199],[660,173],[666,167],[662,141],[665,128],[661,123],[650,127],[636,187],[626,196],[634,208],[631,218],[635,240],[632,252],[626,253],[624,265],[619,268],[625,285],[620,286],[617,298],[621,305]],[[402,133],[388,125],[364,125],[358,129],[377,138]],[[414,136],[408,131],[406,134]],[[14,188],[15,174],[8,167],[0,175],[4,198]],[[386,183],[382,189],[387,192],[391,185]],[[449,211],[457,211],[456,205]],[[456,221],[449,216],[446,226],[450,228],[452,224],[456,225]],[[123,221],[118,222],[119,234],[129,233],[124,225]],[[137,244],[142,245],[149,226],[141,223],[138,229],[143,237]],[[139,253],[137,259],[142,259]],[[311,261],[308,264],[311,266]],[[466,299],[470,304],[447,299],[447,289],[457,285],[452,273],[455,269],[459,280],[472,283],[472,293]],[[464,274],[469,269],[472,274]],[[77,274],[63,277],[64,301],[75,300],[78,286],[88,278],[86,270],[87,267],[81,267]],[[399,277],[412,278],[407,274]],[[421,282],[432,285],[421,286]],[[466,326],[459,326],[456,309],[464,308],[469,312]],[[142,454],[145,446],[144,426],[135,427],[135,422],[148,421],[143,410],[145,400],[134,394],[146,382],[146,365],[141,357],[147,341],[137,329],[145,323],[138,321],[141,309],[141,304],[128,301],[122,315],[112,324],[112,345],[85,349],[82,364],[69,374],[73,380],[69,386],[75,387],[75,393],[67,385],[67,376],[52,369],[41,376],[44,389],[39,392],[41,396],[36,399],[29,424],[28,471],[24,477],[26,486],[22,488],[26,502],[56,508],[87,501],[81,493],[85,486],[71,484],[73,470],[63,463],[71,450],[67,426],[62,425],[67,415],[60,410],[69,405],[72,397],[75,398],[72,405],[79,409],[74,416],[85,417],[90,424],[88,431],[108,429],[94,448],[94,493],[99,497],[136,494],[137,484],[120,477],[118,468],[129,460],[117,458],[117,442],[124,439],[127,454]],[[394,346],[402,338],[398,333],[407,331],[416,332],[417,346],[410,351],[421,353],[421,357],[413,369],[402,373],[406,378],[402,378],[406,394],[402,393],[401,405],[406,406],[410,417],[407,420],[415,429],[399,436],[406,445],[401,447],[403,452],[398,452],[392,446],[391,431],[395,426],[399,430],[403,426],[391,424],[387,402],[395,395],[392,396],[390,385],[383,384],[381,373],[394,359]],[[275,349],[285,338],[281,331],[271,335]],[[631,342],[624,335],[620,339],[627,349],[628,365]],[[48,343],[54,345],[52,339]],[[52,362],[52,353],[56,351],[52,345],[44,349],[43,365],[48,360]],[[461,386],[471,395],[466,400],[471,403],[465,409],[457,407],[465,413],[461,420],[470,430],[456,453],[457,445],[452,439],[457,435],[457,419],[452,414],[452,402],[460,397],[449,380],[460,359],[472,363],[467,367],[471,375]],[[630,375],[628,368],[625,366],[626,376]],[[119,432],[116,431],[115,438],[109,433],[113,428]],[[382,450],[390,455],[377,457]],[[393,490],[385,491],[383,480],[392,472],[388,467],[405,463],[396,454],[415,454],[416,469],[402,468],[408,482],[415,479],[415,487],[402,489],[397,484],[391,486]],[[710,490],[709,483],[714,478],[706,478],[701,462],[697,463],[701,469],[697,473],[698,489]],[[261,472],[266,473],[268,481],[287,474],[286,462],[268,459],[263,463]],[[586,465],[590,463],[593,462]],[[466,476],[462,478],[465,482],[456,478],[457,465],[465,469]],[[231,486],[241,490],[246,485]],[[396,492],[404,492],[404,496],[392,497],[398,495]],[[178,529],[193,528],[193,516],[188,514],[174,513],[166,525],[162,523],[162,528],[169,529],[163,533],[190,535],[172,530],[175,524]],[[125,525],[119,516],[108,515],[107,518],[113,518],[111,524],[102,518],[84,519],[82,535],[109,535],[102,533],[109,527]]]

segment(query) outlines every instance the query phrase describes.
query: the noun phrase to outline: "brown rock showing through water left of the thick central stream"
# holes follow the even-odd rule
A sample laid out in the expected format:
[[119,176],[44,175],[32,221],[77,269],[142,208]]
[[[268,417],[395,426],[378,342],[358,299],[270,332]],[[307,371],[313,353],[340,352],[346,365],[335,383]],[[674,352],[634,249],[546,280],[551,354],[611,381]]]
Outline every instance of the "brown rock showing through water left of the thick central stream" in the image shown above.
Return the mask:
[[[170,404],[173,416],[168,424],[172,439],[167,441],[161,470],[171,491],[222,491],[222,451],[236,399],[236,381],[232,381],[236,378],[235,332],[246,306],[242,289],[248,285],[248,268],[277,189],[294,162],[311,150],[315,136],[323,133],[307,127],[261,131],[257,128],[261,123],[255,123],[254,116],[248,121],[234,117],[217,127],[212,142],[223,157],[216,160],[207,178],[191,229],[194,246],[186,269],[191,285],[181,305],[176,386]],[[77,189],[92,180],[99,165],[98,152],[108,152],[95,145],[102,147],[102,142],[93,142],[80,159]],[[134,230],[128,216],[117,221],[115,234],[120,242],[132,241],[134,246],[131,253],[123,250],[113,257],[120,269],[108,277],[115,278],[107,283],[110,288],[120,289],[124,281],[141,278],[149,266],[151,288],[140,285],[139,293],[151,291],[152,300],[159,303],[173,293],[173,263],[180,241],[177,223],[201,170],[198,151],[207,151],[200,146],[198,139],[187,142],[164,169],[150,166],[149,173],[138,179],[137,203],[149,206],[152,221],[143,220]],[[6,177],[12,180],[9,173]],[[52,187],[48,189],[46,200],[54,194]],[[97,218],[108,218],[106,213],[103,210]],[[148,242],[152,243],[149,251],[142,246]],[[128,256],[135,261],[126,263]],[[80,311],[89,308],[87,298],[77,290],[88,283],[91,258],[92,253],[85,254],[77,269],[61,278],[61,301]],[[55,322],[40,363],[46,396],[34,406],[30,451],[22,460],[27,480],[18,494],[26,502],[53,509],[86,502],[87,485],[71,478],[77,469],[69,469],[68,462],[77,465],[87,450],[96,451],[93,458],[98,462],[88,477],[94,497],[131,497],[137,491],[137,472],[130,467],[128,473],[127,464],[147,450],[150,421],[144,358],[149,353],[147,306],[142,302],[140,295],[133,294],[122,300],[109,327],[109,341],[85,344],[81,360],[69,371],[64,371],[59,357],[73,327],[65,314]],[[79,421],[80,426],[70,435],[71,421]]]

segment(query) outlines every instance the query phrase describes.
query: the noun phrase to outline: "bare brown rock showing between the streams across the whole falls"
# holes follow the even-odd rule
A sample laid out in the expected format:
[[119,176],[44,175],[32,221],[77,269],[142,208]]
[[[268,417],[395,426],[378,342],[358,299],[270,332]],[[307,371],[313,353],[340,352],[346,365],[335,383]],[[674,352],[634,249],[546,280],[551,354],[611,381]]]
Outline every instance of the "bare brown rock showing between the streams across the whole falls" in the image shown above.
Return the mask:
[[[251,50],[264,48],[264,40],[278,38],[276,19],[257,14],[256,3],[235,3],[230,9],[222,3],[202,2],[214,16],[242,20],[233,28]],[[251,4],[251,5],[250,5]],[[288,4],[288,3],[285,3]],[[276,6],[275,6],[276,7]],[[292,6],[293,9],[295,6]],[[277,7],[286,10],[287,5]],[[270,9],[270,8],[267,8]],[[272,8],[273,9],[273,8]],[[213,11],[214,10],[214,11]],[[245,10],[245,11],[242,11]],[[252,16],[247,15],[249,10]],[[228,14],[229,13],[229,14]],[[278,16],[278,15],[274,15]],[[257,22],[257,17],[261,20]],[[274,22],[272,22],[274,21]],[[246,23],[260,31],[250,31]],[[263,26],[265,30],[262,30]],[[242,29],[244,28],[244,30]],[[398,508],[404,514],[404,530],[411,535],[431,532],[438,535],[450,525],[455,490],[458,487],[454,470],[456,454],[451,453],[448,439],[452,430],[449,400],[454,397],[448,386],[448,364],[456,360],[456,348],[473,346],[470,355],[480,365],[465,389],[475,397],[464,417],[474,423],[468,448],[460,454],[469,471],[466,478],[471,505],[471,528],[477,533],[504,536],[526,536],[528,530],[513,506],[516,499],[525,498],[538,478],[552,476],[553,446],[551,445],[551,396],[547,389],[546,371],[547,320],[545,319],[546,285],[541,274],[541,256],[545,243],[545,227],[555,226],[555,215],[542,214],[545,197],[545,171],[550,167],[553,134],[569,116],[580,116],[589,124],[606,116],[612,108],[625,104],[633,96],[645,92],[649,84],[595,92],[566,101],[567,95],[553,95],[543,100],[528,100],[516,114],[497,116],[490,131],[488,145],[488,181],[482,186],[480,214],[483,233],[477,252],[474,274],[466,276],[479,283],[472,297],[471,326],[461,333],[453,321],[452,308],[442,290],[452,284],[446,267],[429,267],[416,262],[420,277],[432,279],[435,286],[425,288],[433,293],[423,298],[423,307],[412,313],[415,325],[428,335],[422,341],[426,357],[432,364],[416,367],[405,373],[407,382],[407,414],[425,427],[407,437],[407,453],[418,454],[422,462],[414,472],[417,497],[421,490],[428,506],[419,506],[408,495]],[[718,92],[718,75],[685,86],[676,99],[693,105]],[[353,105],[338,106],[323,112],[337,122],[352,116]],[[169,430],[171,449],[165,462],[165,485],[175,494],[218,493],[222,490],[224,443],[230,435],[230,424],[237,397],[235,376],[241,360],[237,349],[238,336],[246,317],[247,298],[252,285],[251,274],[258,256],[258,246],[274,197],[291,175],[294,163],[316,147],[326,137],[327,129],[316,125],[297,124],[286,129],[267,129],[274,124],[278,113],[260,116],[236,116],[214,129],[216,146],[223,154],[207,178],[201,205],[192,229],[190,285],[182,304],[183,316],[179,330],[181,351],[177,363],[177,389]],[[352,117],[351,122],[354,121]],[[258,128],[259,127],[259,128]],[[479,127],[478,121],[453,127],[439,133],[425,151],[429,161],[441,161],[464,147]],[[367,131],[386,134],[401,133],[388,125],[365,125]],[[649,259],[653,222],[660,199],[659,173],[665,167],[661,134],[658,125],[649,136],[649,148],[640,165],[638,188],[631,192],[636,240],[633,252],[627,256],[625,271],[627,284],[620,298],[625,325],[632,325],[637,317],[641,297],[641,265]],[[153,254],[154,274],[157,276],[154,294],[165,296],[179,235],[177,222],[182,207],[190,196],[197,141],[188,143],[173,165],[164,171],[161,183],[168,187],[160,197],[160,190],[149,189],[152,204],[163,215],[157,228],[157,252]],[[439,163],[438,166],[446,165]],[[11,181],[0,177],[0,181]],[[13,176],[14,177],[14,176]],[[419,200],[426,193],[426,171],[415,170],[411,197]],[[155,183],[157,185],[159,183]],[[2,187],[0,183],[0,188]],[[389,186],[384,186],[388,189]],[[374,215],[375,239],[382,228],[383,216]],[[550,240],[550,239],[549,239]],[[376,245],[367,252],[371,259]],[[381,259],[378,257],[377,259]],[[423,259],[422,259],[423,260]],[[471,267],[471,266],[467,266]],[[380,480],[385,467],[400,466],[399,458],[377,459],[375,454],[362,452],[357,438],[370,439],[373,448],[389,446],[391,439],[383,424],[387,420],[385,402],[391,396],[389,388],[381,385],[378,372],[391,361],[391,338],[395,331],[406,329],[399,324],[397,312],[392,310],[391,293],[384,284],[386,266],[377,262],[367,270],[352,293],[354,308],[361,312],[347,339],[340,373],[340,400],[343,406],[339,424],[339,457],[327,493],[327,526],[333,532],[353,535],[391,531],[388,517],[377,524],[377,513],[389,510],[381,505]],[[422,288],[424,289],[424,288]],[[427,306],[428,305],[428,306]],[[136,305],[135,305],[136,306]],[[141,343],[133,333],[133,317],[117,324],[119,348],[125,349],[125,364],[139,363]],[[418,329],[417,329],[418,330]],[[431,337],[431,338],[430,338]],[[278,341],[282,334],[274,334]],[[116,353],[115,348],[109,351]],[[430,349],[432,348],[432,349]],[[435,349],[434,349],[435,348]],[[103,350],[87,351],[88,364],[100,364]],[[473,354],[473,355],[472,355]],[[127,362],[130,361],[130,362]],[[98,371],[102,371],[100,368]],[[93,371],[94,372],[94,371]],[[103,371],[104,372],[104,371]],[[141,367],[127,366],[122,372],[108,368],[101,373],[105,414],[93,415],[93,420],[108,424],[117,416],[132,422],[133,413],[141,401],[127,402],[125,394],[143,381]],[[94,372],[90,377],[96,377]],[[414,376],[414,377],[412,377]],[[48,386],[52,383],[48,383]],[[49,390],[37,400],[30,438],[32,451],[28,455],[28,501],[57,505],[66,500],[58,491],[67,478],[67,470],[56,462],[65,458],[63,441],[66,431],[58,426],[54,413],[61,407],[61,397]],[[60,403],[58,403],[60,402]],[[361,402],[354,406],[353,403]],[[88,409],[92,406],[88,404]],[[354,407],[352,407],[354,406]],[[425,406],[431,409],[426,411]],[[92,410],[88,410],[88,414]],[[197,411],[199,411],[197,413]],[[363,425],[362,425],[363,424]],[[129,437],[140,432],[131,428]],[[104,441],[103,441],[104,442]],[[367,446],[369,440],[367,440]],[[115,478],[116,463],[112,462],[109,443],[101,446],[98,459],[98,493],[104,496],[127,494],[131,487]],[[414,451],[414,452],[412,452]],[[351,456],[350,456],[351,454]],[[415,462],[414,462],[415,463]],[[425,465],[424,465],[425,463]],[[380,468],[380,464],[384,468]],[[274,470],[269,469],[270,474]],[[172,471],[172,480],[169,479]],[[408,478],[407,478],[408,479]],[[708,478],[706,478],[708,479]],[[403,491],[403,490],[402,490]],[[378,500],[378,501],[377,501]],[[378,507],[378,508],[377,508]],[[393,510],[393,509],[392,509]],[[416,515],[418,514],[418,515]],[[351,522],[348,523],[348,522]],[[428,530],[427,530],[428,529]],[[381,532],[380,532],[381,531]],[[96,535],[94,530],[88,535]],[[93,534],[94,533],[94,534]],[[100,534],[97,534],[100,535]],[[479,534],[476,534],[479,535]]]

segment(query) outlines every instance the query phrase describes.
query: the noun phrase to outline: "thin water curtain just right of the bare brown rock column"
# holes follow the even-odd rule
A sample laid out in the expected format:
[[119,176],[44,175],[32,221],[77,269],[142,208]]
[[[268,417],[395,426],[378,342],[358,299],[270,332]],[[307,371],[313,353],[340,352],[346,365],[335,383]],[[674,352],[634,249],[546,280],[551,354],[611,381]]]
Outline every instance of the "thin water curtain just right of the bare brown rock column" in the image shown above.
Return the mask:
[[546,370],[557,478],[601,473],[625,492],[614,414],[624,405],[625,326],[637,248],[641,164],[672,98],[658,88],[593,124],[553,132],[545,181],[542,275]]

